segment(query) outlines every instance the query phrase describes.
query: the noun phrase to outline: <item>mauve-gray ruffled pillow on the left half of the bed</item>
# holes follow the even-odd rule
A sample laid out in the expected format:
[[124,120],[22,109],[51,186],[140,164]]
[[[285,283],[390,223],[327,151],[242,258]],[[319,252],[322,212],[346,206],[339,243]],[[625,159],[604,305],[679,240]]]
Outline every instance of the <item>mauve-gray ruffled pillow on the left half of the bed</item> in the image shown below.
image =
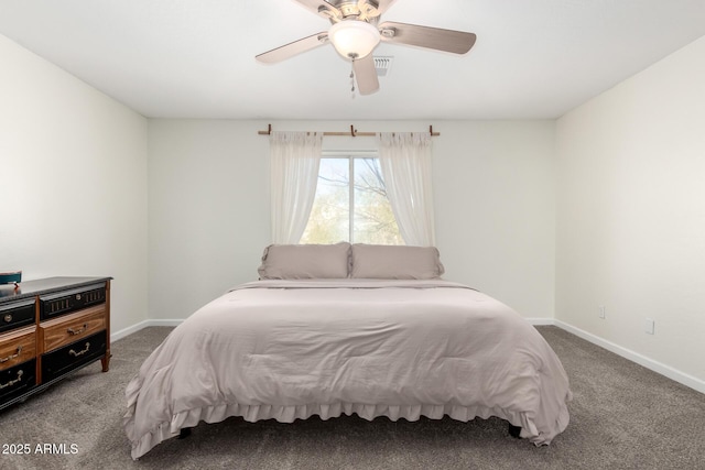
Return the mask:
[[258,272],[261,280],[344,278],[348,276],[350,243],[270,244]]

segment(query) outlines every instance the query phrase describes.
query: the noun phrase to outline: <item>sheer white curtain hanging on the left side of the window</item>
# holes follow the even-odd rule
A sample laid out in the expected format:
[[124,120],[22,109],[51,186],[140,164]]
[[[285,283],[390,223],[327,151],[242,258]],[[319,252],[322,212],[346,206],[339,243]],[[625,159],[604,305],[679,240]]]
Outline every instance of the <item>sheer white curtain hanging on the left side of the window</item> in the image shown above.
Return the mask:
[[317,132],[272,132],[270,173],[272,242],[299,243],[316,195],[321,143]]

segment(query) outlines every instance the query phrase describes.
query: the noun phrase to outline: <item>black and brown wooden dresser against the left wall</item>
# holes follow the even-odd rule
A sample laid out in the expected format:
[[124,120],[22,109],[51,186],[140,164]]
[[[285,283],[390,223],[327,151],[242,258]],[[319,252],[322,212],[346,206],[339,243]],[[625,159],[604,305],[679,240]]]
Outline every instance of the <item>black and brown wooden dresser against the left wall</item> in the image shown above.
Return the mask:
[[0,409],[89,363],[110,363],[111,277],[0,286]]

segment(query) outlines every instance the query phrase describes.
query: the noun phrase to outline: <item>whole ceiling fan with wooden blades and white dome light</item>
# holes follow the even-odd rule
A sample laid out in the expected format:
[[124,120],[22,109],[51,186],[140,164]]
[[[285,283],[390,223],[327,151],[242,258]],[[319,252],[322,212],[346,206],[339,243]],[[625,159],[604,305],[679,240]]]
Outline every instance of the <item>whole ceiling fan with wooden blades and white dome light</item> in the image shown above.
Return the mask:
[[[380,41],[408,44],[454,54],[465,54],[477,36],[464,31],[442,30],[416,24],[379,23],[379,18],[395,0],[295,0],[330,21],[328,31],[294,41],[258,55],[262,63],[284,61],[330,42],[336,51],[352,62],[351,77],[361,95],[379,89],[372,50]],[[355,85],[354,85],[355,90]]]

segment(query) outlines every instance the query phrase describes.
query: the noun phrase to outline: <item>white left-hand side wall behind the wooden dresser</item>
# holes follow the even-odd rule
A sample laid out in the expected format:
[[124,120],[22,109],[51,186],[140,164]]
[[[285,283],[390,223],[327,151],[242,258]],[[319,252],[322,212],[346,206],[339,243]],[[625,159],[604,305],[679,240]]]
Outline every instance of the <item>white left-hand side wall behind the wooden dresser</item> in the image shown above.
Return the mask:
[[147,318],[147,120],[0,35],[0,271],[113,276]]

